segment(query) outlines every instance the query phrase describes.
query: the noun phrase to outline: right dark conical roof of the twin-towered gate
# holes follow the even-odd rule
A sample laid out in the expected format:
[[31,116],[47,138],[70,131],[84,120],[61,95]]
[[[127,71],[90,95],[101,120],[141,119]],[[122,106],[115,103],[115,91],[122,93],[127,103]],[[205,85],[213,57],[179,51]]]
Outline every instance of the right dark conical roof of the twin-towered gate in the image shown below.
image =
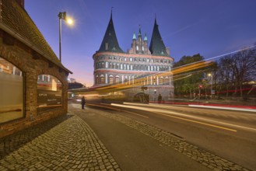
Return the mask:
[[149,45],[149,51],[151,51],[151,54],[153,55],[159,55],[159,56],[169,56],[167,54],[167,50],[165,45],[163,44],[162,37],[160,35],[160,31],[158,30],[158,25],[156,24],[156,19],[155,19],[155,24],[153,28],[153,33]]

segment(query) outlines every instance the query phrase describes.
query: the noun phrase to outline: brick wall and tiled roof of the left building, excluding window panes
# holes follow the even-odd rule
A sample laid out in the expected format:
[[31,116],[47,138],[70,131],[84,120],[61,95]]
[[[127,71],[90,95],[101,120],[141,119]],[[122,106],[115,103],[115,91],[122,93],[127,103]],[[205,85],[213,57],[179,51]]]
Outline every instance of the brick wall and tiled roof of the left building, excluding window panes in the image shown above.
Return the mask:
[[[2,121],[0,123],[1,138],[67,113],[67,78],[72,72],[61,64],[26,10],[23,9],[24,1],[1,0],[0,2],[0,58],[19,68],[23,75],[23,117]],[[38,75],[52,75],[61,82],[61,105],[58,108],[38,112]],[[2,91],[5,90],[2,89]],[[0,98],[4,97],[0,95]],[[16,96],[12,98],[15,99]]]

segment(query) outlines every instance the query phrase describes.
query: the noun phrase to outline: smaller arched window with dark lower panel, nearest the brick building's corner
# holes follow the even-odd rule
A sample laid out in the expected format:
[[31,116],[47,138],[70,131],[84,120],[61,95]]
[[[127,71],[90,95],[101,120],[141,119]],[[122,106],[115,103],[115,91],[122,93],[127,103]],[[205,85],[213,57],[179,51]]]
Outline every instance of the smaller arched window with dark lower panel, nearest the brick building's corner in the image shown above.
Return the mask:
[[54,110],[62,106],[62,84],[53,75],[37,77],[37,111]]

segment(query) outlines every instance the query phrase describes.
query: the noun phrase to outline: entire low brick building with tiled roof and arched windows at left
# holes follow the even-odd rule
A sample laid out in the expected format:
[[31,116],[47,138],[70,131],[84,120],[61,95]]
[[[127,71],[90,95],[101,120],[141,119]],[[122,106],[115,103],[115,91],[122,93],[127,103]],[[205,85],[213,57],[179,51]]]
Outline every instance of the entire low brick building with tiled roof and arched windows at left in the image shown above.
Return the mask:
[[24,0],[0,0],[0,137],[67,113],[70,73]]

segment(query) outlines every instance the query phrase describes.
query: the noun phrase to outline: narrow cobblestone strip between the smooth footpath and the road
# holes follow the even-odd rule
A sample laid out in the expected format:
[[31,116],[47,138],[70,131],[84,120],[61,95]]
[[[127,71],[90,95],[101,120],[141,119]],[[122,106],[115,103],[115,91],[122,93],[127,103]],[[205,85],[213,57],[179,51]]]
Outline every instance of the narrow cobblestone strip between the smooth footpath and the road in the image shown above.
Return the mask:
[[170,146],[170,148],[174,148],[178,152],[187,155],[188,158],[194,159],[197,162],[201,163],[202,165],[209,167],[210,169],[216,171],[249,170],[244,168],[243,166],[239,166],[236,163],[230,162],[210,152],[206,152],[205,150],[200,149],[195,145],[188,144],[188,142],[176,138],[173,134],[167,131],[163,131],[157,127],[153,127],[149,124],[142,123],[138,120],[132,120],[128,117],[123,117],[117,114],[100,112],[100,115],[117,120],[122,124],[127,125],[128,127],[134,128],[135,130],[141,132],[142,134],[149,135],[150,137],[155,138],[157,141],[160,141],[163,144]]

